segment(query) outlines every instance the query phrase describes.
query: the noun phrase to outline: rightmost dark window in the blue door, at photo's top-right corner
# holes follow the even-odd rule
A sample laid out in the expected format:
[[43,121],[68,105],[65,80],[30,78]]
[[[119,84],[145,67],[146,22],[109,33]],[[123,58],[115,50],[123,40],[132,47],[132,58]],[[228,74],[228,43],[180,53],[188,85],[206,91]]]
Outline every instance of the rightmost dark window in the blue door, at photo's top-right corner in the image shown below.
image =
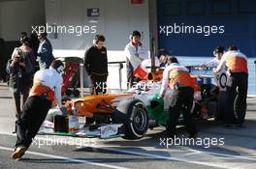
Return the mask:
[[240,14],[255,14],[256,13],[256,1],[251,0],[239,0],[239,13]]

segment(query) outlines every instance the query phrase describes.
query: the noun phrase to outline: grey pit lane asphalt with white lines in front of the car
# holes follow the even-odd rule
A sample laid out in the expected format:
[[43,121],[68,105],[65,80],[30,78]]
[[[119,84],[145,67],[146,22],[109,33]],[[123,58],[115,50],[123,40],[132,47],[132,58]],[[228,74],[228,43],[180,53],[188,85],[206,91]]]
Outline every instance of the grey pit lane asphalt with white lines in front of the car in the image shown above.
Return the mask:
[[[0,168],[256,168],[256,99],[248,99],[246,128],[224,129],[212,121],[197,124],[200,138],[224,138],[224,145],[209,148],[167,147],[161,142],[164,127],[157,127],[135,141],[38,135],[23,159],[13,161],[10,155],[16,142],[12,134],[15,120],[13,99],[8,87],[1,84]],[[186,134],[184,127],[179,127],[178,134],[181,138]],[[47,140],[59,139],[68,143],[47,145]],[[39,147],[40,141],[44,145]]]

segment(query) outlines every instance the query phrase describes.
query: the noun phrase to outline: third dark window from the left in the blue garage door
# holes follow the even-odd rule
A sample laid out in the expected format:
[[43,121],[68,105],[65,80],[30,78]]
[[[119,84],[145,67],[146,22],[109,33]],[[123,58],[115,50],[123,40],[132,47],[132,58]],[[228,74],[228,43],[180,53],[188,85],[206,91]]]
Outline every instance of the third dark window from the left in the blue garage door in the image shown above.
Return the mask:
[[211,14],[231,14],[231,0],[211,0]]

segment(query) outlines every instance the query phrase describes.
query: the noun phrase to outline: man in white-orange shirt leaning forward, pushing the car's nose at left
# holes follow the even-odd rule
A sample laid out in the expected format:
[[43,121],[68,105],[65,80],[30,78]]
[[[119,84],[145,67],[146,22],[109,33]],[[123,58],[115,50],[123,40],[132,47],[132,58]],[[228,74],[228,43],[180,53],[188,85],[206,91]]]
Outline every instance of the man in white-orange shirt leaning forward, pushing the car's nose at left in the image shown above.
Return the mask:
[[32,143],[39,128],[45,121],[53,100],[61,108],[61,86],[64,66],[61,61],[54,60],[49,69],[35,73],[29,98],[16,123],[16,150],[13,159],[20,159]]

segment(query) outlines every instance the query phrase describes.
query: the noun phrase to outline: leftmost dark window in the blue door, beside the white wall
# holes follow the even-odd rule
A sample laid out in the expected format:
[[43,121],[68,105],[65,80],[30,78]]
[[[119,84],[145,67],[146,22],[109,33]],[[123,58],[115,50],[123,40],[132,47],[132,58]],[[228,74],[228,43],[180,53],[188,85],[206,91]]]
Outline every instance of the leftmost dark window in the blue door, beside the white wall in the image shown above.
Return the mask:
[[181,6],[180,2],[170,2],[164,4],[164,15],[181,15]]

